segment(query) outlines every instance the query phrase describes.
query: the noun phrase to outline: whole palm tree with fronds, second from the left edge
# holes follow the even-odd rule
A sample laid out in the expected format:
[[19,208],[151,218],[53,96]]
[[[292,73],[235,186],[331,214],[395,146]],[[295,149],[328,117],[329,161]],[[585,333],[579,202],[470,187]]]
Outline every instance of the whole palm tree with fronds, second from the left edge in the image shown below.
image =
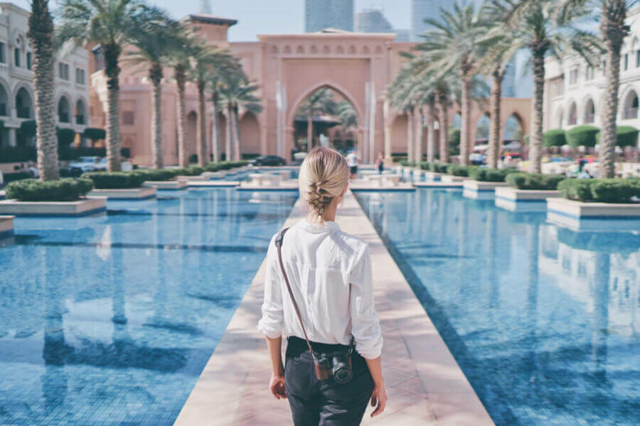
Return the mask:
[[120,170],[119,58],[131,39],[134,18],[143,8],[137,0],[63,0],[58,39],[100,45],[107,75],[107,168]]

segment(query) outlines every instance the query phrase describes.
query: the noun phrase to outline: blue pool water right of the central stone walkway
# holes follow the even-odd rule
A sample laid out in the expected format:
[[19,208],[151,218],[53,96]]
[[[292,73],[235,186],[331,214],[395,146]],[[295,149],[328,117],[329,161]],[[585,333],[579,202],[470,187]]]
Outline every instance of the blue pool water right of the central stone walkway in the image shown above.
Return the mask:
[[575,232],[459,190],[357,197],[496,425],[640,425],[640,221]]

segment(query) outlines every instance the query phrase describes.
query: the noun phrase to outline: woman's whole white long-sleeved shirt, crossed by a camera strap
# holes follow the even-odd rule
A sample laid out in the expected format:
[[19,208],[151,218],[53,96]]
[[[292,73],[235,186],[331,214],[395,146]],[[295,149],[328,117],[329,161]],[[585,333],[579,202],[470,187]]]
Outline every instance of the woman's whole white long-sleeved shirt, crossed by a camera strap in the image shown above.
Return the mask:
[[[266,336],[297,336],[302,327],[287,291],[274,240],[267,251],[265,302],[258,323]],[[365,358],[380,356],[383,338],[373,305],[369,246],[336,222],[302,220],[284,234],[282,261],[311,342],[348,345]],[[351,295],[350,295],[351,288]]]

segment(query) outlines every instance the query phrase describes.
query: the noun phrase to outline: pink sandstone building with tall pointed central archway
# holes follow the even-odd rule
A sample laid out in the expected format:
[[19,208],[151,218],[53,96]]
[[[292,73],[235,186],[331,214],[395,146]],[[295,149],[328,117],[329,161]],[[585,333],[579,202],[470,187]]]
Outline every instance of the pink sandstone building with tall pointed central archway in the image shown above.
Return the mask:
[[[329,87],[353,106],[357,126],[352,130],[358,151],[365,161],[373,161],[378,152],[406,153],[408,117],[390,108],[385,89],[402,67],[415,43],[395,41],[393,33],[349,33],[322,31],[303,34],[259,35],[255,42],[228,43],[226,33],[237,21],[210,15],[189,15],[188,23],[198,28],[198,35],[210,45],[228,47],[240,58],[250,80],[260,87],[262,112],[240,111],[240,151],[243,154],[281,155],[287,160],[296,146],[295,116],[306,97],[317,89]],[[96,55],[95,58],[99,58]],[[91,61],[92,123],[104,126],[107,107],[105,75],[100,61]],[[93,63],[95,62],[95,63]],[[129,148],[132,160],[139,165],[151,162],[151,84],[146,71],[122,64],[120,76],[120,124],[122,146]],[[177,89],[171,70],[164,70],[162,82],[162,136],[164,163],[176,164]],[[501,123],[516,116],[520,134],[528,132],[530,99],[502,100]],[[192,83],[186,87],[186,150],[196,153],[198,102]],[[459,107],[449,109],[449,124],[459,114]],[[471,123],[477,124],[488,114],[488,103],[474,102]],[[213,151],[213,107],[207,102],[207,145]],[[218,111],[220,144],[225,151],[227,117]],[[422,152],[426,152],[427,132],[423,132]],[[476,133],[471,129],[471,137]],[[331,136],[331,135],[329,135]]]

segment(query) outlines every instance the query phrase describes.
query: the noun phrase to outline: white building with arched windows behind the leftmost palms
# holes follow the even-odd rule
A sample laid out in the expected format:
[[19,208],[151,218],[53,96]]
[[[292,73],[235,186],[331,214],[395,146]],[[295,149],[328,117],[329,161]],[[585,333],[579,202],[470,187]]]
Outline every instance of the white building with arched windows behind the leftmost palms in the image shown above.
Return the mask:
[[[36,116],[33,53],[26,36],[29,12],[11,3],[0,3],[0,9],[0,147],[31,146],[33,137],[21,131],[22,123]],[[72,48],[58,53],[55,61],[56,125],[80,135],[89,126],[88,58],[86,49]]]

